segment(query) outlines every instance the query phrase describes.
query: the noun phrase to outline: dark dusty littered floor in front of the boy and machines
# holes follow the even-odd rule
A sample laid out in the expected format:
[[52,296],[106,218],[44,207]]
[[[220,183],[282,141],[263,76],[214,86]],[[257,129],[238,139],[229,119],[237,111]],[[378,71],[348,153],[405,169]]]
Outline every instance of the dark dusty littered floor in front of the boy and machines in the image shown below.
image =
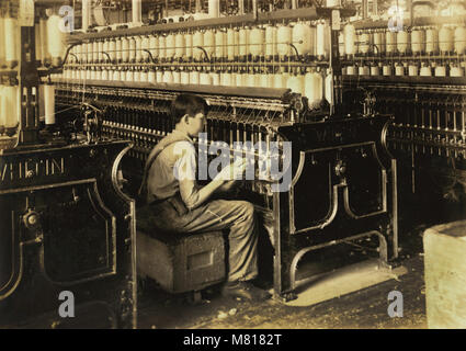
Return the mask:
[[[427,328],[422,230],[401,245],[401,264],[408,273],[397,280],[314,306],[291,307],[277,301],[252,304],[206,294],[198,305],[147,283],[138,301],[138,328],[177,329],[402,329]],[[404,317],[390,318],[388,293],[404,295]]]

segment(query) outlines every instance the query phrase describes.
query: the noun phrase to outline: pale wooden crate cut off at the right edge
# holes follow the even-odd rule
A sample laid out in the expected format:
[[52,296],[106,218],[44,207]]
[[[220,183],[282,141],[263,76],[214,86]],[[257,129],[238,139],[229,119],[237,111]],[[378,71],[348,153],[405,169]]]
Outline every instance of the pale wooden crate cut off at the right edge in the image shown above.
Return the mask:
[[466,328],[466,220],[425,230],[428,327]]

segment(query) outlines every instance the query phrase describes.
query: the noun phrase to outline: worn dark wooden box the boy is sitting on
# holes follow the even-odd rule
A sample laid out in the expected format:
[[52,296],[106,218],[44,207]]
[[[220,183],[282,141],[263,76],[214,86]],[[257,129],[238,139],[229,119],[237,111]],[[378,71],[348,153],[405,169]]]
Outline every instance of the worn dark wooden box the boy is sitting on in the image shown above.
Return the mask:
[[200,291],[226,279],[221,231],[203,234],[137,233],[138,275],[170,293]]

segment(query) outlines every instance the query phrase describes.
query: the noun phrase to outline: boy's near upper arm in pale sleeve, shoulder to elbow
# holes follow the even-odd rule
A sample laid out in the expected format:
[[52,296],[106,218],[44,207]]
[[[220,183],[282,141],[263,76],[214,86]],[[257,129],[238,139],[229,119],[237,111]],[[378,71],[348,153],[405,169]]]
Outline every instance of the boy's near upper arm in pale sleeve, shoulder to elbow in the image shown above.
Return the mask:
[[181,155],[173,167],[174,178],[180,185],[180,195],[186,207],[193,210],[200,205],[196,151],[190,143],[178,143],[174,152]]

